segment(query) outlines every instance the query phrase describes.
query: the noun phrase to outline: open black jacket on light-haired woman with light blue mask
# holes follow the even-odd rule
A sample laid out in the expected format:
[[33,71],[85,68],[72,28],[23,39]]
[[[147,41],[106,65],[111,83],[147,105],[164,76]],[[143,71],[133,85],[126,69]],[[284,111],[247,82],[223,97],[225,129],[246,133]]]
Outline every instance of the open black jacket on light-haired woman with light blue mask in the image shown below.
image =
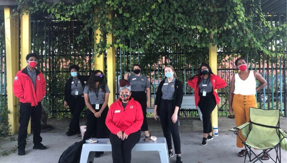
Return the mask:
[[[158,87],[157,87],[157,96],[156,96],[156,101],[155,105],[157,105],[157,113],[159,113],[159,105],[160,105],[160,100],[162,96],[161,88],[164,83],[165,79],[160,81]],[[173,102],[173,109],[175,107],[179,107],[181,109],[182,107],[182,102],[183,102],[183,83],[182,81],[179,81],[178,79],[175,80],[175,91],[174,91],[174,102]],[[178,112],[178,115],[180,112]]]

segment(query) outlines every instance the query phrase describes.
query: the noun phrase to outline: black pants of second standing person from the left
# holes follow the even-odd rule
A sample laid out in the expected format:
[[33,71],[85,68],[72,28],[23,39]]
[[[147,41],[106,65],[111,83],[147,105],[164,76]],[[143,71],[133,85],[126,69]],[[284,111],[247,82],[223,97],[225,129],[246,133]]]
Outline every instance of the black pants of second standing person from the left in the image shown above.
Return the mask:
[[69,125],[69,130],[79,131],[79,116],[85,107],[85,100],[81,96],[71,97],[69,101],[70,112],[72,114],[72,119]]

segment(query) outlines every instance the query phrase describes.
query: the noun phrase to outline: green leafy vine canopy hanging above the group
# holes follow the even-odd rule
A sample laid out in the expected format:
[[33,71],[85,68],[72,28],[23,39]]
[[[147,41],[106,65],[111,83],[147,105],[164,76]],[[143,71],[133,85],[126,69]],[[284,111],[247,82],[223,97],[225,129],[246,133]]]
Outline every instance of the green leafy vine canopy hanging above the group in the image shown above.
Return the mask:
[[[151,45],[209,47],[223,51],[261,51],[275,55],[284,52],[284,44],[275,50],[276,40],[286,42],[286,22],[274,25],[261,11],[261,0],[71,0],[72,4],[43,0],[17,0],[18,10],[29,6],[33,13],[47,12],[53,21],[81,20],[85,25],[78,41],[89,28],[101,30],[96,53],[121,47],[127,52],[144,52]],[[286,20],[286,19],[285,19]],[[106,34],[116,41],[106,43]],[[137,49],[125,44],[135,40]],[[275,44],[275,43],[274,43]]]

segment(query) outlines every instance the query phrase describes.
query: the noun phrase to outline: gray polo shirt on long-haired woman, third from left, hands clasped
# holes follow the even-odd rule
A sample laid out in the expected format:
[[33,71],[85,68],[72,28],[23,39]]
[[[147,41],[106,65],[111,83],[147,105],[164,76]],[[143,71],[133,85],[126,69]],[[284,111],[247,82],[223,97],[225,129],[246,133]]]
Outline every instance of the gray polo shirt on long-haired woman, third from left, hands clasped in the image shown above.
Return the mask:
[[[89,95],[89,102],[91,105],[95,105],[95,104],[103,104],[104,103],[104,94],[105,93],[109,93],[109,89],[107,84],[105,84],[105,90],[103,90],[100,86],[100,90],[98,93],[98,98],[97,98],[97,94],[95,91],[90,91],[89,90],[89,86],[85,86],[84,89],[84,94],[88,94]],[[98,103],[97,103],[97,99],[98,99]]]

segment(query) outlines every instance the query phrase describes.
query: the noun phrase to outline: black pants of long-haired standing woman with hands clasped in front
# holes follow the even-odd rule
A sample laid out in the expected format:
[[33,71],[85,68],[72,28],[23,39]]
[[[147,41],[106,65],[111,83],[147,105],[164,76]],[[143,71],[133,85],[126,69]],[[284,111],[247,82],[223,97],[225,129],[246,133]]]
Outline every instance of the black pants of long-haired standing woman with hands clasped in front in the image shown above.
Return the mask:
[[[103,104],[100,104],[100,109]],[[95,109],[95,105],[92,105]],[[99,110],[100,110],[99,109]],[[96,110],[97,111],[97,110]],[[104,111],[101,114],[101,117],[95,117],[94,113],[87,109],[87,130],[84,134],[83,140],[91,138],[93,134],[96,132],[97,138],[108,138],[109,130],[105,125],[105,118],[107,115],[108,107],[106,106]]]

